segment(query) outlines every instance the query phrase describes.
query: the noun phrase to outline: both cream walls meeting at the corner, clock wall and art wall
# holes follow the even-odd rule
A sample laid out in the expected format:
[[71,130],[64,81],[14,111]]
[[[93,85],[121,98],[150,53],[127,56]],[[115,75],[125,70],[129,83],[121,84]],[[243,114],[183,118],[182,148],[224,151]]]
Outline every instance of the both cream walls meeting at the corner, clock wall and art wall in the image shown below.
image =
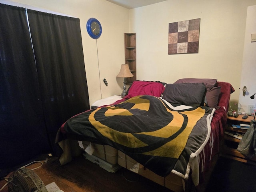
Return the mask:
[[[13,1],[80,18],[90,104],[122,92],[116,75],[124,64],[125,32],[136,33],[137,79],[217,78],[232,84],[231,100],[238,102],[246,12],[256,0],[167,0],[132,10],[106,0]],[[97,41],[86,31],[91,17],[102,24]],[[196,18],[201,18],[199,53],[168,55],[168,24]]]

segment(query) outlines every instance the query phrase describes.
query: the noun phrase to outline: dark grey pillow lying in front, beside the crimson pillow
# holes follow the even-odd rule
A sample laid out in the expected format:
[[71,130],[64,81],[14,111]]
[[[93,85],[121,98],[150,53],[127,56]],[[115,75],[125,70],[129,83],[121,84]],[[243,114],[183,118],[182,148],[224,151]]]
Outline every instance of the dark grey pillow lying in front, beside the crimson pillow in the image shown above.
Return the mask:
[[166,84],[163,99],[171,104],[203,106],[205,92],[203,83]]

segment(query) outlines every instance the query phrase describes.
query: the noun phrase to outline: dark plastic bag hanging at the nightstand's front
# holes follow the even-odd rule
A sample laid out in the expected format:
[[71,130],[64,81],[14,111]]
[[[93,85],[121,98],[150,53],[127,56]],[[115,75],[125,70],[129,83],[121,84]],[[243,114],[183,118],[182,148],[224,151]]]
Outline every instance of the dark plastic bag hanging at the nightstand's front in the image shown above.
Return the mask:
[[246,158],[256,156],[256,121],[250,123],[248,131],[244,134],[237,150]]

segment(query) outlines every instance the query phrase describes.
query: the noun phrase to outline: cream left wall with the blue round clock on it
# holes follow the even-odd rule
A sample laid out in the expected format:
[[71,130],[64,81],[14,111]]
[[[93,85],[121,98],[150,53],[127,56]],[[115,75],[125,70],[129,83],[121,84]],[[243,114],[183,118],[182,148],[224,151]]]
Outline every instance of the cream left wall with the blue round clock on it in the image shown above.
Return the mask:
[[[0,0],[0,3],[3,2],[7,1]],[[129,32],[128,9],[106,0],[15,0],[13,2],[28,5],[27,8],[32,6],[80,18],[90,105],[101,98],[122,93],[123,79],[116,78],[116,75],[121,64],[124,64],[124,33]],[[102,25],[102,35],[98,40],[90,38],[86,31],[87,20],[91,17],[98,19]],[[108,86],[105,86],[104,78],[108,81]]]

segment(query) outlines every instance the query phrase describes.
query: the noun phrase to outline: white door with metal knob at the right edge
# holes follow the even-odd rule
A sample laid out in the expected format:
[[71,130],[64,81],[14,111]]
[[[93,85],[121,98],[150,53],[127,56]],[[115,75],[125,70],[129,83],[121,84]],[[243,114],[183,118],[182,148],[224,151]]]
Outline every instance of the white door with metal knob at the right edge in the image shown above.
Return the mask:
[[[256,106],[256,95],[254,99],[250,96],[256,93],[256,42],[251,42],[251,34],[256,34],[256,5],[249,6],[246,19],[246,32],[244,37],[244,56],[242,65],[241,90],[247,88],[246,95],[240,91],[239,103],[241,111],[248,112],[248,105]],[[255,107],[254,107],[255,108]]]

